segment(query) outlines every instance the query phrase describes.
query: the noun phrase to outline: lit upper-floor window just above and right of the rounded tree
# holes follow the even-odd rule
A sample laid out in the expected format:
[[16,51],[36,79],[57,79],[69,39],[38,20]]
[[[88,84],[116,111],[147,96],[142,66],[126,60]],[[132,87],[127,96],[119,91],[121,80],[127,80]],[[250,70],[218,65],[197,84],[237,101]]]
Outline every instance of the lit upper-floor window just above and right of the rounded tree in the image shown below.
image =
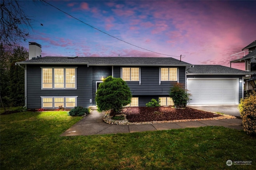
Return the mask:
[[140,68],[123,67],[121,71],[124,81],[140,81]]

